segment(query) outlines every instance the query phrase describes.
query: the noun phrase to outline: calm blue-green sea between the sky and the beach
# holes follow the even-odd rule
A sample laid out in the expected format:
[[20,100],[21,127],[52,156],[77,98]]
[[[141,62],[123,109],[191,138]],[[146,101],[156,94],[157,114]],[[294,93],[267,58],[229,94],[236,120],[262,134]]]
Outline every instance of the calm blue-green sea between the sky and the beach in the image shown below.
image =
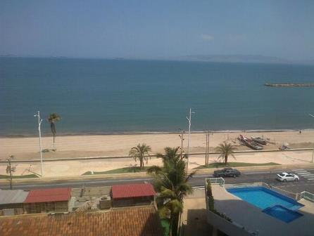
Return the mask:
[[0,58],[0,135],[314,129],[313,65]]

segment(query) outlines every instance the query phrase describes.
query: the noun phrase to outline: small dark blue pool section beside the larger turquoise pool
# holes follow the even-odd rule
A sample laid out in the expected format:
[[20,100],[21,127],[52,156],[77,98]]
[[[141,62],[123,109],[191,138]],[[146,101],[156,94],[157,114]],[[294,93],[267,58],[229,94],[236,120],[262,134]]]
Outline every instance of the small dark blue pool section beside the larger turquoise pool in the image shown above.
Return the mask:
[[296,218],[303,216],[297,211],[291,211],[290,209],[287,209],[284,206],[280,205],[268,207],[264,209],[263,212],[272,217],[279,218],[286,223],[294,221]]

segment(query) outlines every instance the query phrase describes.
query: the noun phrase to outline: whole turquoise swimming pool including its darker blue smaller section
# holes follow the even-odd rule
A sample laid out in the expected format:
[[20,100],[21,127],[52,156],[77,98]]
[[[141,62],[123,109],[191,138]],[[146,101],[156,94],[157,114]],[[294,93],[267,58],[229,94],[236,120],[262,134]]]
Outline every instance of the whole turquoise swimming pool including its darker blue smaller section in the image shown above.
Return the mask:
[[296,200],[281,195],[268,188],[227,188],[227,191],[244,201],[257,206],[266,214],[279,218],[286,223],[294,221],[296,218],[302,216],[302,214],[299,214],[296,210],[302,207],[303,204],[299,204]]

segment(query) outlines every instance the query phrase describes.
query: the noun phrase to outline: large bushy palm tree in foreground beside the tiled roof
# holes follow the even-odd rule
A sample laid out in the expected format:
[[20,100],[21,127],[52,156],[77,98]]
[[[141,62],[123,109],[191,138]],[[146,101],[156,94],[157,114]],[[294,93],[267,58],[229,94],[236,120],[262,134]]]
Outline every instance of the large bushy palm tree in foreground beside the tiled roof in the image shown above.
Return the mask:
[[148,170],[154,176],[156,191],[163,198],[163,206],[158,209],[159,214],[161,218],[170,218],[170,236],[176,233],[179,214],[183,209],[183,198],[193,192],[188,181],[195,173],[187,175],[186,163],[178,150],[178,147],[165,147],[164,155],[156,155],[163,159],[163,166],[152,166]]

